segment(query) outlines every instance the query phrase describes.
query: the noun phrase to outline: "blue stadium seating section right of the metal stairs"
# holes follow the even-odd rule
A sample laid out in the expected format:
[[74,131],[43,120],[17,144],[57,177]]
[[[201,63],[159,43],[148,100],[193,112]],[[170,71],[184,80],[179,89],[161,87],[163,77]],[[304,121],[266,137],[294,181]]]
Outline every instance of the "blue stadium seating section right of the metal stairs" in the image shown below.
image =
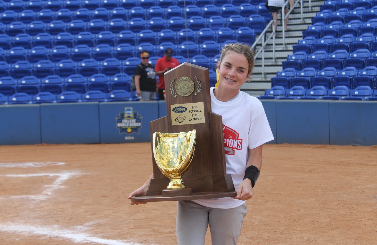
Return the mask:
[[259,98],[377,100],[376,4],[325,1]]

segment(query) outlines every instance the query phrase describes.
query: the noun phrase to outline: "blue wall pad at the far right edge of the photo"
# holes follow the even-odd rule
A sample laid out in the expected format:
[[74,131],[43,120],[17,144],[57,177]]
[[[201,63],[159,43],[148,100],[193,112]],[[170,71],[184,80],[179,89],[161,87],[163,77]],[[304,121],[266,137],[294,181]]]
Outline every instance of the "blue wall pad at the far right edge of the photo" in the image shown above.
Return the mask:
[[329,103],[331,145],[377,145],[375,101]]

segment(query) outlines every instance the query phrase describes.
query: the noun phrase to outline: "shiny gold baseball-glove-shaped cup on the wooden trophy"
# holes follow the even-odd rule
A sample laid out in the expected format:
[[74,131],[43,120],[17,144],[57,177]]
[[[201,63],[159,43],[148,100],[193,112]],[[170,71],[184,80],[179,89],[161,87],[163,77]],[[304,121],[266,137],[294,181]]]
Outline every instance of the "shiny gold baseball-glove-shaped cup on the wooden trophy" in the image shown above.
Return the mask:
[[[170,194],[190,194],[191,189],[186,188],[182,182],[182,175],[186,173],[194,157],[196,143],[196,130],[187,133],[154,133],[153,156],[162,174],[170,179],[163,196]],[[187,189],[187,190],[182,190]],[[181,191],[172,191],[181,190]]]

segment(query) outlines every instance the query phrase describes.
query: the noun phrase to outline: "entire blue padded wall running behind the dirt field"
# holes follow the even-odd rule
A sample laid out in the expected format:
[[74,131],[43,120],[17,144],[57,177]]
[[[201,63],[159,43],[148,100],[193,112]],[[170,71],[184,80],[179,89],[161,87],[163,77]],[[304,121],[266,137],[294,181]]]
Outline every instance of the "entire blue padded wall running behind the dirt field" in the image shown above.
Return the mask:
[[[377,103],[262,100],[273,144],[377,145]],[[0,145],[150,142],[166,102],[0,105]]]

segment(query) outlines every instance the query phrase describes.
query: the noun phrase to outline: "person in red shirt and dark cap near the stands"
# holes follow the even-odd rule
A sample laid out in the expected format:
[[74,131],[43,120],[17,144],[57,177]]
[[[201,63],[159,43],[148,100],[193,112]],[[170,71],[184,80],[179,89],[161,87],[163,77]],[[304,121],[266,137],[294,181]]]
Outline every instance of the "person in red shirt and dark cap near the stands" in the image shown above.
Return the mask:
[[[158,99],[165,100],[164,98],[164,90],[165,90],[165,79],[164,73],[169,71],[176,66],[179,66],[179,61],[172,57],[173,49],[166,48],[164,57],[161,57],[156,61],[155,65],[155,72],[159,75],[158,77]],[[161,73],[162,72],[162,73]]]

